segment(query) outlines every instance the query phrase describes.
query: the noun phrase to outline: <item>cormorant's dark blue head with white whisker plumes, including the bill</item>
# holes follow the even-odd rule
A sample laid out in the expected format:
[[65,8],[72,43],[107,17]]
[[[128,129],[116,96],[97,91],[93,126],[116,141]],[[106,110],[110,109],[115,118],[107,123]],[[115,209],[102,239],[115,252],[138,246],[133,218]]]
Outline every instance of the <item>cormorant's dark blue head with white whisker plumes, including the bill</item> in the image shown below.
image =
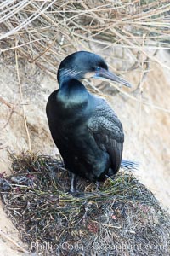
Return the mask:
[[74,79],[109,79],[131,87],[126,80],[108,70],[104,59],[88,51],[77,51],[68,55],[59,65],[57,79],[59,83],[65,78]]

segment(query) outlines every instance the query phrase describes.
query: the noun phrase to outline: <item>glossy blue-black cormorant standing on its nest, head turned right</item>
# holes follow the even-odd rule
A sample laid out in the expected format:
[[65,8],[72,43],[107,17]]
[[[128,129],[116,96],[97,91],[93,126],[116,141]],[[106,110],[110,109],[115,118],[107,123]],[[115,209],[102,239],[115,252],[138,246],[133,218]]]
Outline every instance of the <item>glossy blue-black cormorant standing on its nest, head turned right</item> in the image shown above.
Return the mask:
[[101,97],[89,93],[81,80],[110,79],[130,87],[111,73],[104,59],[87,51],[68,55],[59,65],[59,90],[48,98],[48,125],[54,143],[71,171],[71,191],[76,177],[104,181],[118,172],[122,160],[124,134],[116,113]]

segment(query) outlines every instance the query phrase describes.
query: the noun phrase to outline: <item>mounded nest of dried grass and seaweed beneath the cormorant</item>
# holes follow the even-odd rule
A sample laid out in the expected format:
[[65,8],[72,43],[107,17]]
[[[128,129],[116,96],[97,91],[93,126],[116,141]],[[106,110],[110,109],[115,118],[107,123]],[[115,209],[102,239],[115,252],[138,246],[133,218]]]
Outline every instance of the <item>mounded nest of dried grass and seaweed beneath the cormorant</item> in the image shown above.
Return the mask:
[[41,255],[169,255],[169,216],[154,195],[119,172],[96,189],[79,178],[70,195],[62,160],[11,155],[0,178],[3,208],[30,251]]

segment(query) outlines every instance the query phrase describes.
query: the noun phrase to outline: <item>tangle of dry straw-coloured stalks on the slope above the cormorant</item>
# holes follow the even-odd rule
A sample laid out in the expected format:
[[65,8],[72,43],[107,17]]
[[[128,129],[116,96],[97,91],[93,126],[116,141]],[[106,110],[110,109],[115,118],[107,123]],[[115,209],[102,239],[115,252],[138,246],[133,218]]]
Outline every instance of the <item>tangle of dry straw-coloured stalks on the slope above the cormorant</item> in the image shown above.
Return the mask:
[[[93,50],[119,46],[142,66],[155,60],[144,46],[169,49],[169,3],[161,1],[15,1],[0,4],[1,51],[17,49],[20,57],[35,62],[55,78],[56,67],[78,49]],[[96,46],[95,46],[95,51]],[[117,50],[116,50],[117,51]],[[144,54],[142,60],[140,54]],[[122,68],[123,69],[123,68]]]

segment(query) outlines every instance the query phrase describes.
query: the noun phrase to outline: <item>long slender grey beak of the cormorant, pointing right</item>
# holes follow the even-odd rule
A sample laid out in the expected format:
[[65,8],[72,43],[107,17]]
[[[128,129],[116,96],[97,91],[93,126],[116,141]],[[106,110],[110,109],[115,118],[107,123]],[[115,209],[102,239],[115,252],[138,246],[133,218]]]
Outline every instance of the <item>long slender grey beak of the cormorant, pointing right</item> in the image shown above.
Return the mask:
[[95,79],[109,79],[118,84],[123,84],[127,87],[132,87],[132,85],[129,84],[126,80],[122,79],[121,77],[116,76],[116,74],[111,73],[110,71],[106,70],[105,68],[100,68],[98,71],[96,71],[94,74],[94,78]]

